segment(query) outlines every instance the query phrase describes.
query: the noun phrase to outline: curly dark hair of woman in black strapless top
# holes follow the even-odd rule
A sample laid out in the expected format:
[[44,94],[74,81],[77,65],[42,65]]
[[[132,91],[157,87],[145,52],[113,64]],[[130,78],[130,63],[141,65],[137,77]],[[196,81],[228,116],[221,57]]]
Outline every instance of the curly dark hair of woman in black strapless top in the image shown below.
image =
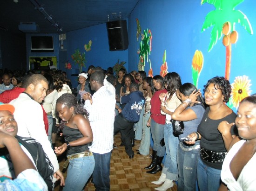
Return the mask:
[[[74,115],[81,114],[81,115],[85,115],[86,117],[88,117],[89,115],[88,111],[77,103],[76,97],[73,94],[68,94],[68,93],[63,94],[57,99],[56,104],[57,103],[61,103],[67,106],[67,108],[74,107]],[[65,122],[61,120],[59,128],[62,130],[64,125],[65,125]]]

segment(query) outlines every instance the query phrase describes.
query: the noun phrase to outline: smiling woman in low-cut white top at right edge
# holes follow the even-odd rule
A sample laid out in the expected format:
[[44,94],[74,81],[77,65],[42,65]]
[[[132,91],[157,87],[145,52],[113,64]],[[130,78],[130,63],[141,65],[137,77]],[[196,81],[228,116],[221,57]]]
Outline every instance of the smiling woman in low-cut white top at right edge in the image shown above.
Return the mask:
[[[221,171],[222,182],[230,191],[256,189],[256,94],[244,98],[235,120],[238,134],[229,146]],[[222,121],[219,125],[231,128],[234,123]],[[222,184],[219,191],[227,190]]]

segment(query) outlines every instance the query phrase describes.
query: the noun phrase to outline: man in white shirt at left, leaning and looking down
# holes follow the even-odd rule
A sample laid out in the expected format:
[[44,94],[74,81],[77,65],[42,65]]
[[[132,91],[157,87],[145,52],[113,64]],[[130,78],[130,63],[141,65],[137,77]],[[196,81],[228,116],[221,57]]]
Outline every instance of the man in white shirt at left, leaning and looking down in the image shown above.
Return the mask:
[[59,163],[48,140],[40,103],[46,96],[47,79],[41,74],[33,74],[27,80],[27,87],[20,96],[10,102],[15,107],[14,117],[18,123],[18,135],[38,140],[54,166],[54,177],[63,178]]

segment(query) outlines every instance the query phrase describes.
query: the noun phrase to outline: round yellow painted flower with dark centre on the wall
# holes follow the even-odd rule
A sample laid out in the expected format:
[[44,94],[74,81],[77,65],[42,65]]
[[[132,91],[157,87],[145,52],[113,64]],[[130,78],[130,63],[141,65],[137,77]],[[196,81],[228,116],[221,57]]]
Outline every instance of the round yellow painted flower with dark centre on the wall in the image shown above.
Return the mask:
[[250,95],[250,81],[251,80],[248,79],[248,76],[236,76],[234,83],[231,84],[231,100],[234,104],[234,107],[238,108],[241,100]]

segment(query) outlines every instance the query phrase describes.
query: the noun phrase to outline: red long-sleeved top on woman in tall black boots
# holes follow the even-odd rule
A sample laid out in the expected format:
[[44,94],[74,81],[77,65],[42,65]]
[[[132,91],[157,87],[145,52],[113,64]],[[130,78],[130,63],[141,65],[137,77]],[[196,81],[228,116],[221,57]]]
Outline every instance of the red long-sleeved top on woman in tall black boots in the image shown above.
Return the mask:
[[150,104],[151,104],[151,115],[150,117],[153,118],[153,120],[156,123],[165,124],[165,115],[161,114],[161,110],[160,110],[160,106],[161,106],[161,102],[159,99],[159,95],[161,93],[166,93],[167,90],[166,89],[162,89],[162,90],[158,90],[155,92],[155,94],[153,95],[153,97],[151,98]]

